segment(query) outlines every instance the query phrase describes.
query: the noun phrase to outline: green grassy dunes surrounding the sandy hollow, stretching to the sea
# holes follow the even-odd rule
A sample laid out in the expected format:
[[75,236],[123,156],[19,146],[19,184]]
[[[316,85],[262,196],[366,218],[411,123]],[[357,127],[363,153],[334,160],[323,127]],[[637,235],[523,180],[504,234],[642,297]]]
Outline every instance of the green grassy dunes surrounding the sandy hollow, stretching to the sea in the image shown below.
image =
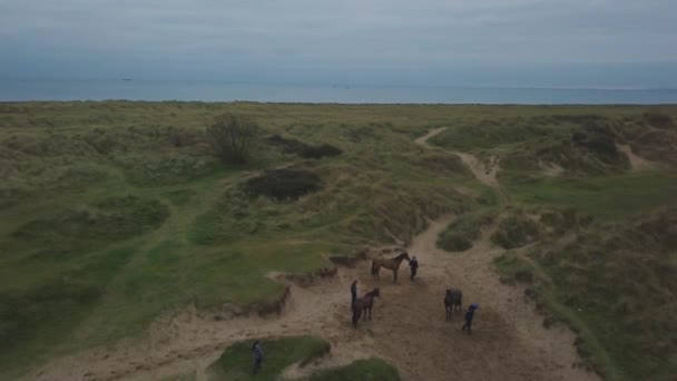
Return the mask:
[[[255,117],[266,138],[342,154],[304,158],[264,139],[251,165],[224,166],[204,136],[223,113]],[[608,375],[669,374],[674,355],[646,351],[657,340],[677,350],[661,335],[677,332],[664,319],[675,316],[676,227],[650,224],[677,205],[670,116],[677,108],[0,104],[0,374],[138,335],[187,304],[265,311],[284,292],[268,272],[312,273],[330,255],[410,240],[445,213],[465,218],[445,232],[452,247],[487,218],[538,215],[533,237],[516,229],[498,241],[538,244],[499,265],[506,279],[536,274],[527,280],[543,306],[578,324],[581,351]],[[413,143],[439,126],[449,128],[432,139],[438,149]],[[655,166],[631,170],[615,143]],[[500,157],[501,189],[453,152]],[[548,176],[539,163],[562,172]],[[281,166],[317,175],[320,188],[294,202],[246,192]],[[608,246],[639,221],[654,226],[645,241]]]

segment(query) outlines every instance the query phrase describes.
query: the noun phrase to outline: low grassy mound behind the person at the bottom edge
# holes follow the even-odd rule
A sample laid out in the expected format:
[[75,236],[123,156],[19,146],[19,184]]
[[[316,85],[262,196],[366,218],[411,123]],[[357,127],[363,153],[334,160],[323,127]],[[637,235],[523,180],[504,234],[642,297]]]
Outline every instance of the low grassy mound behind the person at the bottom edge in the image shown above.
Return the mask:
[[282,371],[294,364],[302,367],[330,352],[331,345],[316,336],[262,339],[264,352],[261,372],[252,374],[254,340],[239,341],[226,348],[220,358],[209,365],[210,380],[277,380]]

